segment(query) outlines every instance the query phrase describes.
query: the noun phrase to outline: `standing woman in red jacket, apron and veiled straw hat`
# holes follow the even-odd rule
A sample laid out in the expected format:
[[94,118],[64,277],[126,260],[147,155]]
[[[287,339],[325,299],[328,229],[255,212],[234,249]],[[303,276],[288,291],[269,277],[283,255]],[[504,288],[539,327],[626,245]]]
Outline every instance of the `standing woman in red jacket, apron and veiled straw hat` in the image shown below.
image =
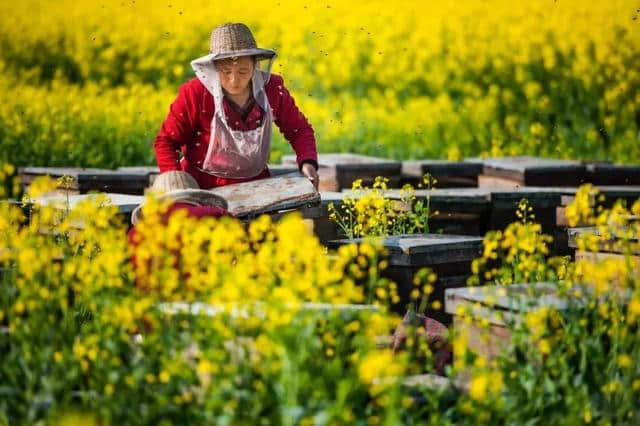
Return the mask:
[[313,128],[282,77],[270,74],[275,57],[244,24],[213,30],[209,54],[191,61],[196,78],[180,86],[155,139],[161,173],[183,170],[203,189],[268,177],[275,122],[318,188]]

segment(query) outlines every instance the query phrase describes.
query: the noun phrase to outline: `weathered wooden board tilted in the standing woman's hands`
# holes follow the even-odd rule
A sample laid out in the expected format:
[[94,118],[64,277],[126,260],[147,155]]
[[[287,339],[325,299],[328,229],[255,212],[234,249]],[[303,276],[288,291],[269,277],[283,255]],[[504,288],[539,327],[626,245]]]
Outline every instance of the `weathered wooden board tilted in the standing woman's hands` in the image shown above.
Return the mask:
[[318,203],[320,194],[306,177],[272,177],[210,190],[227,201],[236,217],[257,216]]

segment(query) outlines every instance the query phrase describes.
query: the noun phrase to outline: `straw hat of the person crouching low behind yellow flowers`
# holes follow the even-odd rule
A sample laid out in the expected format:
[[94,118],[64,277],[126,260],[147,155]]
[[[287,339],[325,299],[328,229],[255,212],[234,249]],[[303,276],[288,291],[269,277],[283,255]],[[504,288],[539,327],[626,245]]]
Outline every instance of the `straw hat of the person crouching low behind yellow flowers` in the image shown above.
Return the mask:
[[[200,189],[198,182],[187,172],[171,171],[157,176],[150,190],[156,194],[158,201],[171,200],[176,203],[192,204],[194,206],[209,206],[227,208],[227,201],[213,194],[211,191]],[[140,204],[131,214],[131,223],[137,225],[142,218],[144,203]]]

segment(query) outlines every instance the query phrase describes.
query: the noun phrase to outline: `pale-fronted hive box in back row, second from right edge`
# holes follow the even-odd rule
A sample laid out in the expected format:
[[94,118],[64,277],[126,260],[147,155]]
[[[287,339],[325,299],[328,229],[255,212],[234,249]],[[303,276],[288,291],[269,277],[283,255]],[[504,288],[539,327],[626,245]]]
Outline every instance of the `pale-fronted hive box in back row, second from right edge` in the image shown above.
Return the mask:
[[482,161],[483,172],[478,186],[517,188],[520,186],[578,186],[585,180],[586,169],[579,161],[515,156],[472,159]]

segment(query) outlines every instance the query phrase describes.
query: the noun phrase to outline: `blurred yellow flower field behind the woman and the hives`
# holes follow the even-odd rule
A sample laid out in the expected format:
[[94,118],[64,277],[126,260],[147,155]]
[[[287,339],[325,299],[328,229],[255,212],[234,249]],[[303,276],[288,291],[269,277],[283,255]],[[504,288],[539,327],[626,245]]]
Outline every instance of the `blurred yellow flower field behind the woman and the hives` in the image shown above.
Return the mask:
[[[640,4],[26,0],[0,4],[0,160],[153,164],[212,28],[277,49],[320,151],[640,161]],[[290,148],[278,134],[273,160]]]

